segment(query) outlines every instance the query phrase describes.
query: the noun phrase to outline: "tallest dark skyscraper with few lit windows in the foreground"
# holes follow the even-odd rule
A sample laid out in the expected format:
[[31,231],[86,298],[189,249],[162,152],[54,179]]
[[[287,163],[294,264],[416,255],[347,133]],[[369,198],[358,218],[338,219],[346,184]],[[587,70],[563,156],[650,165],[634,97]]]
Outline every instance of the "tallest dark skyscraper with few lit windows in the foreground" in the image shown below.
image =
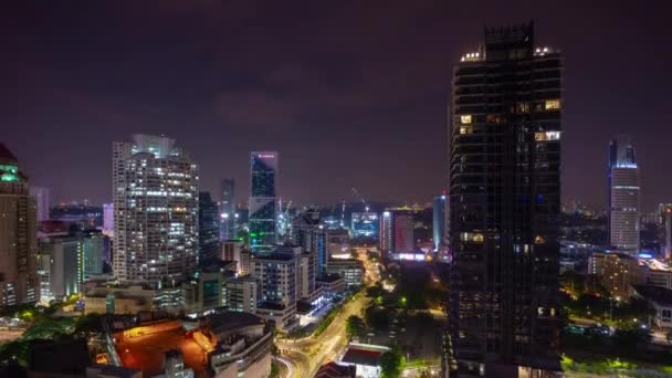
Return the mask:
[[451,377],[555,377],[563,56],[533,23],[485,29],[454,67]]

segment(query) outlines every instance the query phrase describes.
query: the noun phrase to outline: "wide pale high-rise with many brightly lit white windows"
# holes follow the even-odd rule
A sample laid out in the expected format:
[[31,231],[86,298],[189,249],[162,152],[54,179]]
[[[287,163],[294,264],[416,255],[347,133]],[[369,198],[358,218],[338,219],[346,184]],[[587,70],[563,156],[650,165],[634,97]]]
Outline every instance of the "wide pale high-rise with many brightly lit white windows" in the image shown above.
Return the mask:
[[198,255],[198,171],[166,137],[113,145],[115,242],[120,282],[159,286],[189,277]]

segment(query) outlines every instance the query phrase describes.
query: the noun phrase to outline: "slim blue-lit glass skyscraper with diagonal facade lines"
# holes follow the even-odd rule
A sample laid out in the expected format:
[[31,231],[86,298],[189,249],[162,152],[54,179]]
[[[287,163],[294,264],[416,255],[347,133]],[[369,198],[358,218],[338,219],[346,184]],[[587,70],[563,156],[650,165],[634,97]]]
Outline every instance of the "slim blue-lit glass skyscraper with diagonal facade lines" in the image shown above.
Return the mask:
[[250,248],[255,253],[273,251],[277,244],[275,176],[277,153],[252,153],[252,185],[249,203]]

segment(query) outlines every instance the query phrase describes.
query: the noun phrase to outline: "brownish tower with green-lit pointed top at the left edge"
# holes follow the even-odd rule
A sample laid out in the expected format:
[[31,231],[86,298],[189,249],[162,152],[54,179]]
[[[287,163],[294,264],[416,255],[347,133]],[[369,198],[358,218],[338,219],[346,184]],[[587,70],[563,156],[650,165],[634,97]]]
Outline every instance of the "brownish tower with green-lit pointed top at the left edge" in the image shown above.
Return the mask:
[[0,308],[40,300],[35,218],[28,177],[0,143]]

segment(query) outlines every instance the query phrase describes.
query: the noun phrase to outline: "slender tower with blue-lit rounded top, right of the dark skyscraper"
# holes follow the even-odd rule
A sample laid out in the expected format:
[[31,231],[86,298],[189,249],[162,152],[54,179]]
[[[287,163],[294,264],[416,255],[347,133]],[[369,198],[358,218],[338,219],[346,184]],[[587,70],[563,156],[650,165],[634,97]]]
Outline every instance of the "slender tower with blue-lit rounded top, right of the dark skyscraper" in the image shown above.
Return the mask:
[[636,254],[639,250],[639,168],[634,147],[624,136],[609,145],[609,243]]

